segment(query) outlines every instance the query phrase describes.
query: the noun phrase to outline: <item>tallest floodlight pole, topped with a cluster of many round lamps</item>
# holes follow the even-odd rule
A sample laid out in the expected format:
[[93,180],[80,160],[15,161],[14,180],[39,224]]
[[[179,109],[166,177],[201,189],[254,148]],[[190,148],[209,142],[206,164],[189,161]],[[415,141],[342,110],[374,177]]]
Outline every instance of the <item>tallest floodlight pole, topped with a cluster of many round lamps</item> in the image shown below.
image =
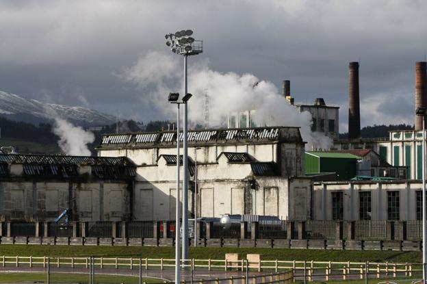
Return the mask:
[[184,56],[184,122],[183,122],[183,248],[182,259],[183,266],[185,260],[188,259],[188,145],[187,145],[187,57],[190,55],[198,55],[203,52],[203,41],[194,40],[192,38],[193,31],[191,29],[183,29],[174,34],[166,34],[166,45],[170,47],[173,53]]

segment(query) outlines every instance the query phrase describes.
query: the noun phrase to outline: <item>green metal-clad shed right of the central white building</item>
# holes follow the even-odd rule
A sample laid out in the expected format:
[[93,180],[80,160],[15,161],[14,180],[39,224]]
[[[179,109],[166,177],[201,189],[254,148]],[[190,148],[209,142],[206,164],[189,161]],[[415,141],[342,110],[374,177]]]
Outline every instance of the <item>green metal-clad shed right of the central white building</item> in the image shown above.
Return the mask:
[[305,152],[305,173],[335,172],[337,180],[348,181],[357,175],[359,159],[348,153]]

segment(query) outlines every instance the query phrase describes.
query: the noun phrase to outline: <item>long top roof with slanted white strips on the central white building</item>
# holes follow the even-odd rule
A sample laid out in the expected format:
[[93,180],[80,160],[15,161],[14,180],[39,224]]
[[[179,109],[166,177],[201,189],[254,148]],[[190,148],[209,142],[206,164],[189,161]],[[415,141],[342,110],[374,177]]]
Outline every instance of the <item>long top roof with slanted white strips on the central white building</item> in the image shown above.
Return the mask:
[[[280,137],[280,129],[283,127],[257,127],[248,129],[212,129],[188,131],[189,142],[227,142],[227,141],[258,141],[277,140]],[[291,127],[294,128],[294,127]],[[300,139],[300,138],[298,138]],[[101,146],[116,144],[168,144],[177,140],[177,133],[173,131],[157,133],[134,133],[134,134],[109,134],[103,135]],[[183,140],[183,133],[179,135]]]

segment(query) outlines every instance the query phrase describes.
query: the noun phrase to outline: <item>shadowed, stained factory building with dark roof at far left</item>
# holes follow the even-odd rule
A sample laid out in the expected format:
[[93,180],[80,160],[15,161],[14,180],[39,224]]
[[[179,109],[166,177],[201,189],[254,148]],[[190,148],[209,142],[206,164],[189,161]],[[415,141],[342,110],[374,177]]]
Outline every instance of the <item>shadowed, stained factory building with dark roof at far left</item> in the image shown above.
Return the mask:
[[0,154],[0,220],[128,220],[134,177],[125,157]]

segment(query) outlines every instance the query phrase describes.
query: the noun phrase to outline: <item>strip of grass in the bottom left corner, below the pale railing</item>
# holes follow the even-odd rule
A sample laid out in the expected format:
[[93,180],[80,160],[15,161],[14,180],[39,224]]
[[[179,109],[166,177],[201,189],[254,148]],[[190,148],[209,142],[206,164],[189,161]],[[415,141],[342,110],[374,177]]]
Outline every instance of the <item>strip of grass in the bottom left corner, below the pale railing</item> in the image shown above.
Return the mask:
[[[71,273],[51,273],[51,282],[53,283],[89,283],[89,274],[71,274]],[[94,276],[96,283],[138,283],[139,279],[135,276],[117,276],[117,275],[96,275]],[[34,273],[8,273],[0,272],[0,283],[18,283],[18,282],[40,282],[47,281],[47,274]],[[143,278],[142,282],[159,283],[160,279]]]

